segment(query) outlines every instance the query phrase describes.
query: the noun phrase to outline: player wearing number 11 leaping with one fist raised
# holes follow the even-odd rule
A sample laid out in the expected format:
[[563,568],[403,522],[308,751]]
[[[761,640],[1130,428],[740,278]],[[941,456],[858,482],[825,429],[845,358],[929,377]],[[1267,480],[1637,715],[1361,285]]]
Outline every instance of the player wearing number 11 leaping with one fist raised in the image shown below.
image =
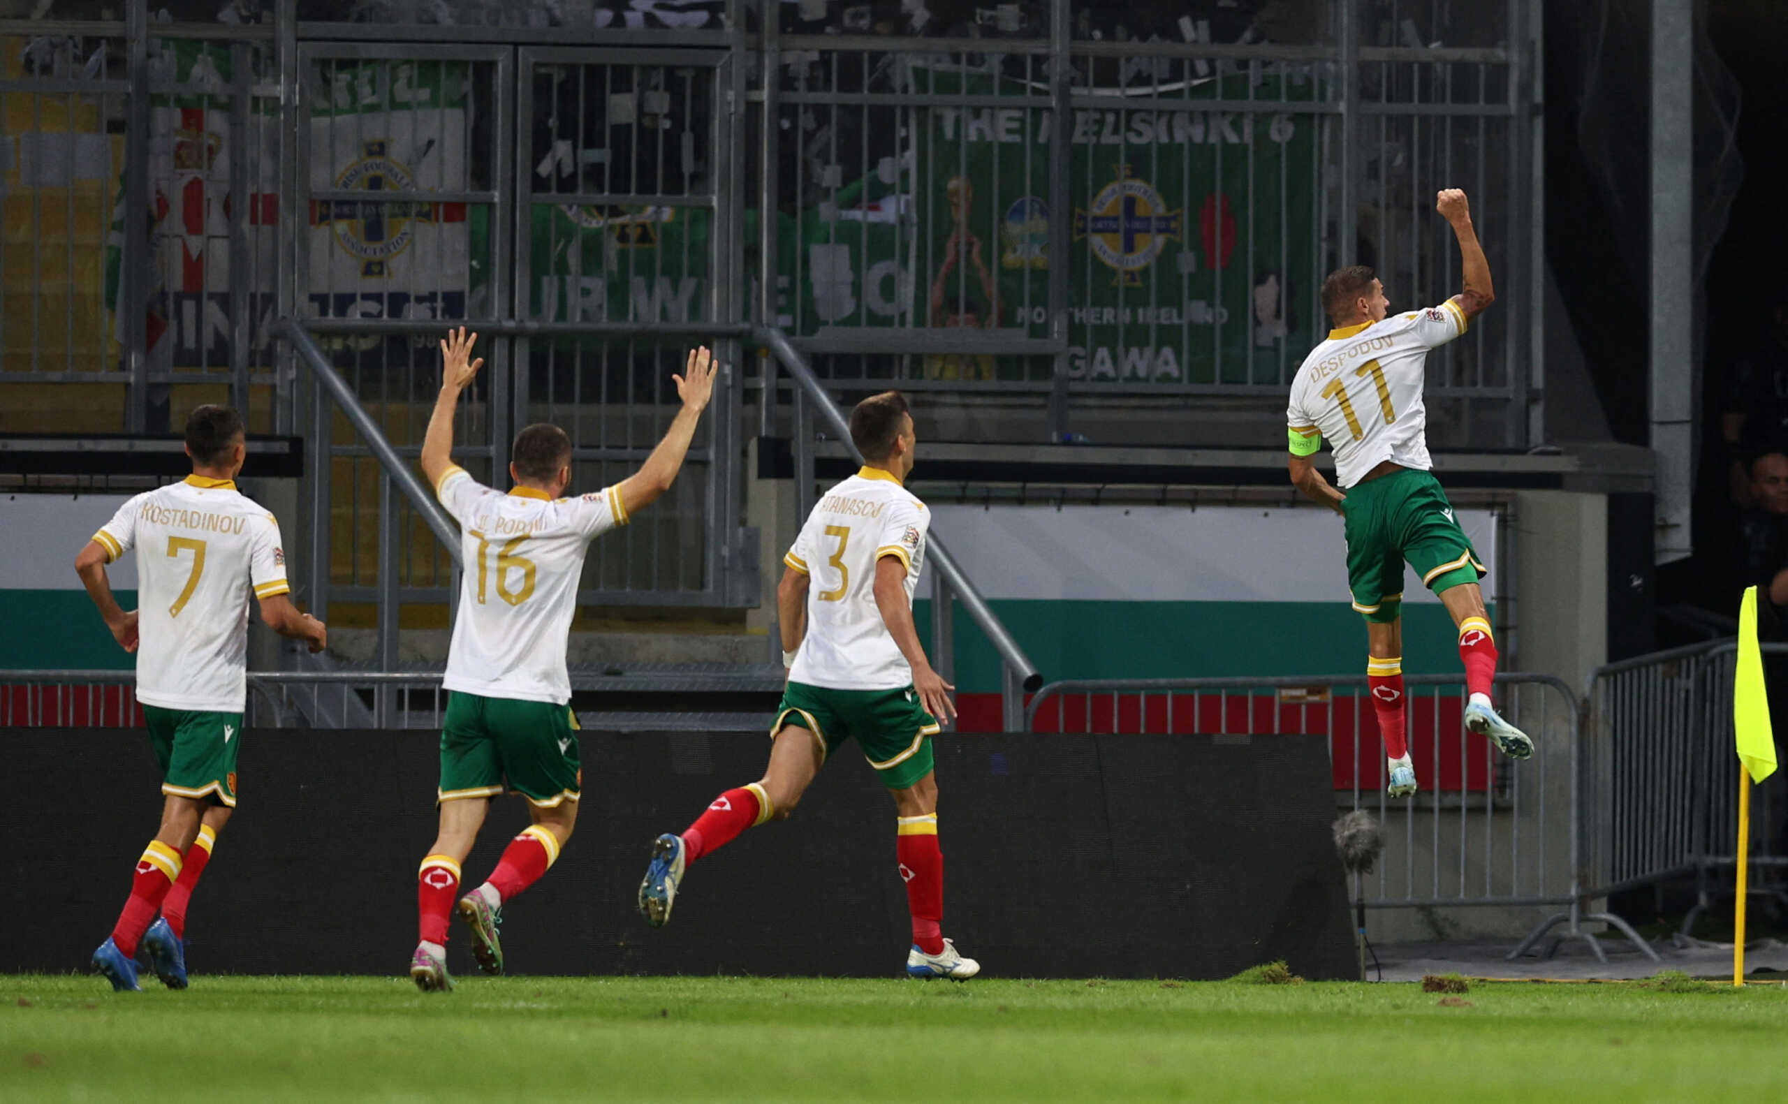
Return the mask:
[[[1346,518],[1348,590],[1366,618],[1366,677],[1389,761],[1391,797],[1416,791],[1404,715],[1404,561],[1439,595],[1459,627],[1464,661],[1464,725],[1488,736],[1502,754],[1525,759],[1534,741],[1491,706],[1497,643],[1477,581],[1484,566],[1454,520],[1441,484],[1430,475],[1421,384],[1429,350],[1466,332],[1497,295],[1489,263],[1472,227],[1464,193],[1450,188],[1436,209],[1459,239],[1464,289],[1438,307],[1387,316],[1384,286],[1366,266],[1343,268],[1323,280],[1328,339],[1303,359],[1286,409],[1291,482]],[[1336,454],[1339,489],[1316,470],[1323,438]]]

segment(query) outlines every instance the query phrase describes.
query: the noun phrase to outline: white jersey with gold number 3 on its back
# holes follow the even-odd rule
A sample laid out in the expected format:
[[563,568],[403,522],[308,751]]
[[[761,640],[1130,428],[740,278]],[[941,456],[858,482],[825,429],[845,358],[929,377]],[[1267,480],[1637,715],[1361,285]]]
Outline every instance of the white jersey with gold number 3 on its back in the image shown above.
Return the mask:
[[806,636],[789,672],[790,682],[833,690],[901,690],[912,666],[876,607],[876,563],[907,565],[907,606],[924,570],[924,502],[880,468],[862,468],[826,491],[783,556],[810,575]]

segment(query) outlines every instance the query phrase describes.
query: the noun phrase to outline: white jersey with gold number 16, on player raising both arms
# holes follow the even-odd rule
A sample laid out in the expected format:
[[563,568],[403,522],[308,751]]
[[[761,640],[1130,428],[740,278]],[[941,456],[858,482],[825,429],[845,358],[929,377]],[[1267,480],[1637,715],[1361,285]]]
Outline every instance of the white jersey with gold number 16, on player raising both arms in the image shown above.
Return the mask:
[[628,523],[620,488],[579,498],[493,491],[465,468],[436,484],[460,522],[460,611],[442,686],[526,702],[570,700],[565,641],[590,541]]

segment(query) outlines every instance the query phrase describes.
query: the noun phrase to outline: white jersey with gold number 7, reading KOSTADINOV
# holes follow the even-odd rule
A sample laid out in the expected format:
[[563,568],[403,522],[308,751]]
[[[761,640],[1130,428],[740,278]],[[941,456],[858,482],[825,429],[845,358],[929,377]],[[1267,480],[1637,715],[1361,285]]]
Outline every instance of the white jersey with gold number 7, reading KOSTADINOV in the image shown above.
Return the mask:
[[138,700],[241,713],[249,598],[291,590],[274,514],[227,479],[188,475],[120,506],[93,539],[107,559],[138,550]]

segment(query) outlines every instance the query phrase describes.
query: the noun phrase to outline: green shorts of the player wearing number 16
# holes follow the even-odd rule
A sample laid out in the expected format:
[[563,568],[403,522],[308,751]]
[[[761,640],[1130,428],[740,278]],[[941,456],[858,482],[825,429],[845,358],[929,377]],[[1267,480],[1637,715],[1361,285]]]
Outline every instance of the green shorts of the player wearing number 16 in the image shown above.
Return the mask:
[[442,723],[434,800],[515,791],[542,809],[578,800],[578,716],[570,706],[488,698],[454,690]]

